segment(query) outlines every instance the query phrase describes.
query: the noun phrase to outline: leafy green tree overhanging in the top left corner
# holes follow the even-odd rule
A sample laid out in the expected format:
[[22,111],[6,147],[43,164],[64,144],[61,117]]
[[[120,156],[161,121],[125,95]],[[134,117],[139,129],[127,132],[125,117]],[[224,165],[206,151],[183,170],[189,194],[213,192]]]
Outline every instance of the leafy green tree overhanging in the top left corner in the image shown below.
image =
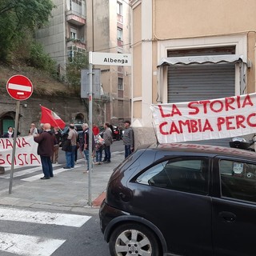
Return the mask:
[[48,22],[51,0],[0,0],[0,60],[6,61],[28,33]]

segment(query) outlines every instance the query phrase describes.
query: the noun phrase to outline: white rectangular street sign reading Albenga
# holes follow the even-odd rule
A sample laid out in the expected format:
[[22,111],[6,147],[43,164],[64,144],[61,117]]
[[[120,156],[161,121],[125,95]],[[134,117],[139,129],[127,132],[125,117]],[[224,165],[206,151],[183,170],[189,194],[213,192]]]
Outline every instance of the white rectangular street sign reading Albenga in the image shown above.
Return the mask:
[[94,65],[131,66],[131,54],[92,52],[90,63]]

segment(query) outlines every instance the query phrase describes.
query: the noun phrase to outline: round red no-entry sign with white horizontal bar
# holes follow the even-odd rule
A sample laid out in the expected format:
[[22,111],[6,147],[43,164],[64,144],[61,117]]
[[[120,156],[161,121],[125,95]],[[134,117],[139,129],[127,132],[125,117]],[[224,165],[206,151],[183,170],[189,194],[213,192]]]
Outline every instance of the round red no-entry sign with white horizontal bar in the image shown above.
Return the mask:
[[19,101],[24,101],[33,93],[33,85],[29,78],[17,74],[12,76],[6,83],[6,90],[10,97]]

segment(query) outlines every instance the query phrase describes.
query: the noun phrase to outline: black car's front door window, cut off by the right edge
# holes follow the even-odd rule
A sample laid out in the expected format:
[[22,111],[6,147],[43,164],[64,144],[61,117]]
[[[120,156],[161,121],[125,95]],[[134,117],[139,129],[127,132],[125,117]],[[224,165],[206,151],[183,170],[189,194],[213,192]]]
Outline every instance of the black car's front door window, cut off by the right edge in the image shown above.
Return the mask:
[[256,202],[256,165],[221,160],[222,197]]

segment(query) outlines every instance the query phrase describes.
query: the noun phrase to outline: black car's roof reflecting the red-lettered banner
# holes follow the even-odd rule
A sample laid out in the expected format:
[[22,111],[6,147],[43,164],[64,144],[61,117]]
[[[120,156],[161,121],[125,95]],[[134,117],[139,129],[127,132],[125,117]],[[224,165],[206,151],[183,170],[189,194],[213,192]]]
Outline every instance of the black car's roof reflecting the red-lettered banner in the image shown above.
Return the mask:
[[[143,146],[142,146],[143,147]],[[212,146],[205,144],[192,144],[192,143],[163,143],[163,144],[153,144],[145,145],[145,148],[166,150],[166,151],[176,151],[176,152],[186,152],[193,154],[212,154],[212,155],[222,155],[227,157],[238,157],[247,158],[254,160],[256,159],[256,153],[250,150],[240,150],[237,148],[224,147],[224,146]]]

